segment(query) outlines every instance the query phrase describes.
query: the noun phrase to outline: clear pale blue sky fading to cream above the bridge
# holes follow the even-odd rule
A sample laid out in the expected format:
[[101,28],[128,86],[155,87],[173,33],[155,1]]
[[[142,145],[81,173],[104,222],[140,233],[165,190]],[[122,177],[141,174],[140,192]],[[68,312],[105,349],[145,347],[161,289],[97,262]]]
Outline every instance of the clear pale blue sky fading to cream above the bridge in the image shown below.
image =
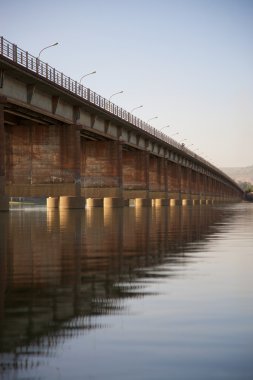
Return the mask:
[[0,0],[0,35],[218,167],[253,165],[253,0]]

